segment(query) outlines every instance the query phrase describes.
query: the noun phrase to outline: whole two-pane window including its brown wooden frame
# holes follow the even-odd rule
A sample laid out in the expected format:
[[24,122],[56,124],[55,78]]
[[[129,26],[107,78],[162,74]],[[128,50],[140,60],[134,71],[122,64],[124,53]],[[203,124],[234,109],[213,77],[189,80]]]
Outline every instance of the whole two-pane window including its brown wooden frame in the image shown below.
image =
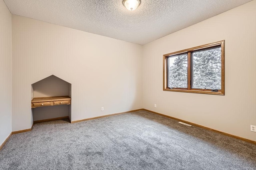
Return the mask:
[[164,55],[164,91],[224,95],[224,40]]

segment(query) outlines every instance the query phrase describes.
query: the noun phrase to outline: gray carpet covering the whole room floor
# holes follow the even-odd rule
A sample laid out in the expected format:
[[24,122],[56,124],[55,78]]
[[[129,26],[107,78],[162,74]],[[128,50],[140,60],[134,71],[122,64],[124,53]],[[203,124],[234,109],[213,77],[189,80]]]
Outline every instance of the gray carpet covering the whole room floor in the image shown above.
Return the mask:
[[38,123],[0,151],[1,170],[256,170],[256,145],[138,111]]

